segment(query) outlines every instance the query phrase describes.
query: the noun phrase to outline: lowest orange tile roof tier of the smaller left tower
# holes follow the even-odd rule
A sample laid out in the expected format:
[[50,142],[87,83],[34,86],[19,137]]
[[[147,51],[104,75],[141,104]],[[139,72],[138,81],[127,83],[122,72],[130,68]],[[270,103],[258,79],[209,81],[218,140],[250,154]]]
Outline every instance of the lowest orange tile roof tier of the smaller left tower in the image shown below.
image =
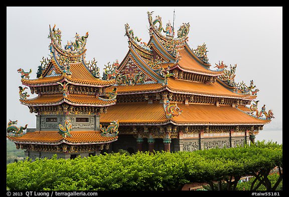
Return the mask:
[[57,131],[35,131],[27,132],[23,136],[7,136],[10,140],[19,143],[68,143],[68,144],[100,144],[117,140],[116,137],[105,137],[100,135],[100,131],[71,131],[71,137],[62,137]]

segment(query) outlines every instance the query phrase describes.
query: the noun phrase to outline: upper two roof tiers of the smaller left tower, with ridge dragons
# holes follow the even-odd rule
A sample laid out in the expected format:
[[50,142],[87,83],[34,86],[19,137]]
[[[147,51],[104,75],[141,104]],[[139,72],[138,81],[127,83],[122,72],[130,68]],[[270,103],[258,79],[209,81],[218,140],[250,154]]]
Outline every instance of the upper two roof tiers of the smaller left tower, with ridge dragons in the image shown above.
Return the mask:
[[[96,65],[91,68],[91,65],[86,63],[85,45],[88,33],[83,37],[79,37],[78,34],[76,35],[76,40],[79,39],[80,41],[79,43],[74,43],[74,49],[69,48],[69,46],[73,47],[72,43],[70,43],[71,45],[66,45],[65,49],[62,49],[61,42],[57,39],[58,37],[55,36],[59,31],[60,30],[55,30],[55,26],[52,30],[50,28],[51,59],[43,59],[45,60],[45,64],[42,64],[42,66],[38,68],[40,71],[37,79],[22,78],[21,82],[23,85],[29,86],[32,89],[44,86],[59,86],[59,84],[62,86],[71,84],[76,86],[102,88],[111,86],[115,83],[114,79],[102,80],[100,76],[97,76],[96,74],[93,75],[93,71],[97,69]],[[42,63],[44,63],[44,61]],[[32,91],[32,93],[33,92],[34,91]],[[49,95],[40,93],[33,99],[21,98],[20,101],[22,104],[28,106],[59,105],[64,102],[71,105],[95,107],[115,104],[115,99],[101,99],[98,95],[87,95],[86,93],[62,95],[57,92]]]

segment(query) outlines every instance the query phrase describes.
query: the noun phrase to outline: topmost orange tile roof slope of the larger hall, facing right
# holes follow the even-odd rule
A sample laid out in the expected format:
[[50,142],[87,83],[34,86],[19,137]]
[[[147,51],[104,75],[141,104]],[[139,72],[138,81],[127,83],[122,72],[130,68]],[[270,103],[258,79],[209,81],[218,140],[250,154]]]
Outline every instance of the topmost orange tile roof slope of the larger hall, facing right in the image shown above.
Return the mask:
[[182,57],[181,60],[178,62],[178,66],[181,70],[185,70],[188,72],[196,72],[203,75],[211,75],[211,76],[218,76],[222,75],[222,71],[210,71],[198,63],[196,60],[192,58],[186,48],[179,50],[180,56]]

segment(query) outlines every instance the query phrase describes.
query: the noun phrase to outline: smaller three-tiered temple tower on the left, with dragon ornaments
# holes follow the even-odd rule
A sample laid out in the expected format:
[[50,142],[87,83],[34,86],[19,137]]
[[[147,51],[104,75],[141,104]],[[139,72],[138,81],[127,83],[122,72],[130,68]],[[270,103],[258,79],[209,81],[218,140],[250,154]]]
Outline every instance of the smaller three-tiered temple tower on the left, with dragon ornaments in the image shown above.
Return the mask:
[[85,36],[76,33],[75,42],[67,42],[62,49],[61,30],[54,26],[49,31],[50,59],[42,58],[37,79],[30,79],[31,69],[18,69],[22,84],[32,94],[38,94],[29,99],[27,87],[19,86],[20,103],[37,113],[36,128],[18,127],[17,120],[11,120],[7,138],[33,159],[51,158],[53,154],[61,158],[99,154],[118,137],[117,122],[107,128],[99,123],[99,114],[115,104],[117,92],[113,90],[103,97],[99,94],[115,80],[102,80],[95,60],[86,62],[88,32]]

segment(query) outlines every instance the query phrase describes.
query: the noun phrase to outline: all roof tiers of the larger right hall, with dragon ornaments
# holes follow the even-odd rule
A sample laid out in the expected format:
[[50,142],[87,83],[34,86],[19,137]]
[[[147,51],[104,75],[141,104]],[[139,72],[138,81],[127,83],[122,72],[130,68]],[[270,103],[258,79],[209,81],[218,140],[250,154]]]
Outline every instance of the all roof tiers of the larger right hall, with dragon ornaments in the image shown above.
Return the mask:
[[[194,50],[187,43],[189,23],[183,23],[176,38],[169,23],[164,30],[161,17],[157,16],[153,20],[152,15],[153,12],[148,12],[150,24],[148,43],[141,42],[129,25],[125,25],[129,50],[117,68],[119,72],[116,76],[118,98],[122,95],[169,92],[220,99],[232,98],[232,102],[236,99],[239,102],[230,105],[177,102],[183,112],[168,119],[162,103],[133,102],[133,97],[125,97],[131,99],[128,103],[116,103],[108,107],[107,113],[100,116],[101,122],[109,123],[112,119],[118,119],[120,125],[167,123],[263,125],[270,122],[271,117],[262,119],[249,113],[249,108],[245,105],[256,98],[256,93],[253,93],[255,86],[252,83],[251,86],[246,86],[243,82],[242,84],[234,82],[236,65],[230,66],[230,70],[227,70],[226,65],[216,64],[217,69],[211,70],[206,45],[198,46]],[[129,72],[128,68],[130,68]],[[183,75],[186,76],[182,77]],[[131,76],[141,80],[127,80],[131,79]],[[108,87],[106,91],[111,91],[111,88]]]

